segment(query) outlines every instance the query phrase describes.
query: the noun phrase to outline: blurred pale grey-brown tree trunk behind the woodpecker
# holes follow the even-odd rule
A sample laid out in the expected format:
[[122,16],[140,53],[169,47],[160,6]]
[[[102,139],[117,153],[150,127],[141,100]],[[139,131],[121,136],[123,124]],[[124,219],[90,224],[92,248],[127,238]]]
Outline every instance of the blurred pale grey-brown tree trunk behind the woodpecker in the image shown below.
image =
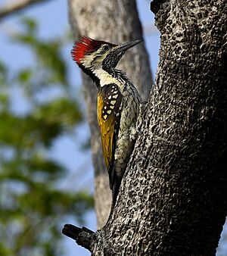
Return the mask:
[[[91,0],[89,3],[69,0],[69,11],[75,39],[82,35],[113,43],[123,43],[143,38],[135,0]],[[138,45],[126,52],[118,67],[126,71],[142,97],[148,98],[152,80],[145,45]],[[88,76],[82,74],[82,80],[91,130],[92,158],[95,168],[95,209],[99,228],[106,223],[110,212],[110,186],[104,167],[97,123],[97,89]]]

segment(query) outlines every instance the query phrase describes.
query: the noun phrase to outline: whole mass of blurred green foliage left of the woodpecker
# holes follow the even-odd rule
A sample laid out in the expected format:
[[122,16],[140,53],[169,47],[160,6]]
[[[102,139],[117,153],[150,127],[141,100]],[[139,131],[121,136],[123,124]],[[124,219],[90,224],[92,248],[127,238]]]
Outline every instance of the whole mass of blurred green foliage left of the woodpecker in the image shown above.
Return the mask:
[[[58,189],[67,170],[48,152],[62,135],[74,138],[82,114],[70,93],[63,40],[43,42],[35,20],[22,24],[13,40],[30,48],[34,64],[11,74],[0,62],[0,255],[62,255],[62,224],[84,221],[93,200],[87,192]],[[56,87],[54,98],[39,100]],[[30,106],[26,113],[12,110],[16,88]]]

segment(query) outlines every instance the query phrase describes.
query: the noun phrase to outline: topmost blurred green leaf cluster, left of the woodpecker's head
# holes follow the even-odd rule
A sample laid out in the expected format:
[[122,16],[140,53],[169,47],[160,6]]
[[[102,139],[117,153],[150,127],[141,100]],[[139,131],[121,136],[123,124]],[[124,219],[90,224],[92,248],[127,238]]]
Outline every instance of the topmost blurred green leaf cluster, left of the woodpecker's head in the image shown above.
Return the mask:
[[[49,86],[51,83],[58,83],[60,86],[68,86],[67,67],[61,58],[61,39],[52,39],[44,42],[37,38],[37,24],[35,20],[23,18],[23,33],[14,36],[14,41],[27,45],[36,54],[36,79],[39,78],[37,86]],[[37,73],[38,72],[38,73]],[[30,68],[21,70],[18,73],[20,82],[29,83],[33,76]],[[43,80],[45,76],[45,80]],[[34,80],[33,80],[34,83]]]

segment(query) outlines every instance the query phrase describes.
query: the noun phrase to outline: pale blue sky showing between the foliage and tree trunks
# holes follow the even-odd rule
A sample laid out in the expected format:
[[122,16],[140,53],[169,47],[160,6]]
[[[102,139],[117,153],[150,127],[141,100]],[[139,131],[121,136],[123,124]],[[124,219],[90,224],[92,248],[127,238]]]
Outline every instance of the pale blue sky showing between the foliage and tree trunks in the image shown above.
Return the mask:
[[[0,0],[1,5],[9,2],[11,0]],[[151,61],[151,70],[155,75],[158,64],[158,51],[160,48],[160,34],[154,27],[154,15],[149,10],[150,1],[148,0],[138,0],[138,13],[141,19],[141,23],[145,31],[145,45],[148,49]],[[18,67],[23,67],[33,63],[33,56],[30,51],[21,45],[15,45],[8,41],[8,33],[14,33],[17,31],[17,20],[20,18],[21,14],[15,14],[4,22],[0,23],[0,58],[2,58],[11,67],[11,70],[17,70]],[[54,0],[50,2],[43,3],[41,5],[34,5],[31,8],[23,11],[23,15],[28,17],[34,17],[39,20],[39,36],[43,39],[52,38],[54,36],[61,36],[66,29],[69,29],[68,16],[67,16],[67,1],[66,0]],[[73,43],[73,42],[72,42]],[[15,58],[16,56],[16,58]],[[66,48],[64,52],[64,58],[71,60],[70,48]],[[75,86],[81,84],[81,79],[79,77],[79,70],[76,69],[73,61],[69,61],[70,69],[70,80]],[[20,92],[14,95],[14,109],[15,111],[27,111],[28,106],[24,104],[23,99],[18,97]],[[50,95],[48,95],[50,96]],[[41,95],[44,97],[44,95]],[[46,95],[45,95],[46,97]],[[86,139],[87,133],[89,133],[89,127],[87,123],[80,125],[76,131],[76,139],[79,139],[79,143]],[[50,156],[53,158],[58,158],[58,161],[67,166],[70,170],[70,175],[60,184],[64,188],[74,188],[76,180],[80,180],[77,189],[88,189],[93,192],[93,168],[91,152],[88,151],[86,154],[81,151],[81,149],[75,146],[75,143],[71,142],[70,138],[67,136],[62,136],[54,142],[51,149]],[[88,170],[85,173],[76,170]],[[75,174],[76,173],[76,174]],[[96,220],[95,212],[91,211],[86,214],[86,226],[89,229],[96,230]],[[227,232],[222,233],[223,236],[227,236]],[[65,256],[86,256],[90,255],[89,251],[76,245],[73,240],[64,237],[64,245],[67,247],[67,254]],[[226,256],[227,244],[222,242],[220,246],[218,256]]]

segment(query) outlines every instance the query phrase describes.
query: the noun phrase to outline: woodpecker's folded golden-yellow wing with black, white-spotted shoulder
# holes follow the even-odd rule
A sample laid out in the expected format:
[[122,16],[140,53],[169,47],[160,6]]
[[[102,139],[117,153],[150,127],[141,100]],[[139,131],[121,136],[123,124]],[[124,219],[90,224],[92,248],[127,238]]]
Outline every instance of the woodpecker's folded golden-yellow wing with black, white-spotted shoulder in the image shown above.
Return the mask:
[[110,178],[110,189],[113,182],[112,167],[120,124],[121,99],[120,91],[114,83],[101,87],[98,92],[98,124],[104,161]]

